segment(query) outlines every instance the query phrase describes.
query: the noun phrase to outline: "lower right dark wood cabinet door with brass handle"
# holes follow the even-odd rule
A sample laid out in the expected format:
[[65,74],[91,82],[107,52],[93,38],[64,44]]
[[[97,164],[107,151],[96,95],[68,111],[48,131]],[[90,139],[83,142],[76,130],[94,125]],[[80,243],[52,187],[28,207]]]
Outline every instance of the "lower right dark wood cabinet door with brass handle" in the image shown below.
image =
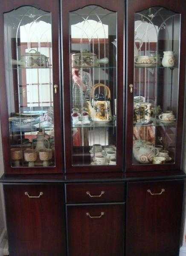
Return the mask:
[[183,180],[128,184],[126,256],[178,256]]

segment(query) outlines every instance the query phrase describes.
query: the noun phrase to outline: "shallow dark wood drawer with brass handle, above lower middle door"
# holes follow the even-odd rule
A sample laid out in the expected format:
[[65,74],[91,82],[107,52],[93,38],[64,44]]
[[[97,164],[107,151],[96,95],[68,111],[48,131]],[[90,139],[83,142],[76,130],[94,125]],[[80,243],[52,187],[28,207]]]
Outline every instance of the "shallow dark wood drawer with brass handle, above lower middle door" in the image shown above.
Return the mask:
[[67,184],[67,203],[124,202],[123,183]]

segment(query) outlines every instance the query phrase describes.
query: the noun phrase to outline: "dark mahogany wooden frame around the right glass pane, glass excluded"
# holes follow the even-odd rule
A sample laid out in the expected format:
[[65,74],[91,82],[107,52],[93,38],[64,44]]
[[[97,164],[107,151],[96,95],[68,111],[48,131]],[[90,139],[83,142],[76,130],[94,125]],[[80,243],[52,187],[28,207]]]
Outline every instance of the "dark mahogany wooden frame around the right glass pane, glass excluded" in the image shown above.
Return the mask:
[[[180,72],[179,72],[179,95],[177,109],[177,134],[176,156],[174,164],[165,165],[133,165],[133,93],[129,85],[134,85],[134,13],[140,12],[153,6],[162,6],[181,14],[180,33]],[[125,167],[126,171],[151,171],[151,170],[179,170],[181,165],[182,140],[183,140],[183,116],[184,116],[184,93],[185,93],[185,59],[186,59],[186,2],[182,0],[127,0],[127,45],[126,45],[126,144],[125,144]],[[179,113],[179,114],[178,114]]]

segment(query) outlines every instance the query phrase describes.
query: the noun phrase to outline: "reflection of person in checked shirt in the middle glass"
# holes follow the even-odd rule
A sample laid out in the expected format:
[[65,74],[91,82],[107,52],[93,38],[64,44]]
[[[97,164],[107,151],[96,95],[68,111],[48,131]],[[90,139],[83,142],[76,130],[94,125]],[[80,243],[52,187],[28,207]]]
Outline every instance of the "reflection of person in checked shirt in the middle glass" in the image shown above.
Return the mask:
[[90,98],[91,76],[85,71],[79,71],[78,68],[73,68],[72,74],[74,82],[72,88],[73,107],[81,109],[86,105],[86,99]]

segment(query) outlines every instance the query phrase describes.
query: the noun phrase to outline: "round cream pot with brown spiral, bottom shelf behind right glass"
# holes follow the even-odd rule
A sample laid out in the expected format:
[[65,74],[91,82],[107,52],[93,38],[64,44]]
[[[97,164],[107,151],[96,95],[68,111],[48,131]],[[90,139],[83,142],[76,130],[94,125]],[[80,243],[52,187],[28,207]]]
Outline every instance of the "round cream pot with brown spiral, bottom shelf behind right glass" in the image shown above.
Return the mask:
[[141,164],[149,164],[153,160],[154,152],[150,147],[137,147],[134,149],[134,157]]

